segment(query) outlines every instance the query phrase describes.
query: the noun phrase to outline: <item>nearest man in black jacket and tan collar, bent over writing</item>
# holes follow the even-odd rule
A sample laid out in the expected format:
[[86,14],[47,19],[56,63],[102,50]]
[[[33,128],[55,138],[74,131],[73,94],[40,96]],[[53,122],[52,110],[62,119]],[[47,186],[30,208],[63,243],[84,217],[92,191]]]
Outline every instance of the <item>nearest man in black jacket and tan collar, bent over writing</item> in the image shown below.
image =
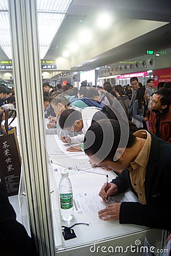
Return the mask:
[[134,192],[138,202],[109,204],[98,212],[120,224],[171,230],[171,145],[148,131],[126,132],[124,123],[106,119],[94,122],[85,135],[84,151],[90,162],[107,171],[124,170],[104,184],[99,196]]

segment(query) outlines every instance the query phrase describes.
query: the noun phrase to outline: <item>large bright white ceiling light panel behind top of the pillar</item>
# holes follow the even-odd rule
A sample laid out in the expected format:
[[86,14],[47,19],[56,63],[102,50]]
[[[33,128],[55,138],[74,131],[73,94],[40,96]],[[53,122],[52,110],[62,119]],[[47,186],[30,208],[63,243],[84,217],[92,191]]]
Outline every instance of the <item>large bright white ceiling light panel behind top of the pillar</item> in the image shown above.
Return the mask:
[[[37,0],[40,59],[44,59],[52,40],[73,0]],[[12,59],[7,0],[0,1],[0,47]]]

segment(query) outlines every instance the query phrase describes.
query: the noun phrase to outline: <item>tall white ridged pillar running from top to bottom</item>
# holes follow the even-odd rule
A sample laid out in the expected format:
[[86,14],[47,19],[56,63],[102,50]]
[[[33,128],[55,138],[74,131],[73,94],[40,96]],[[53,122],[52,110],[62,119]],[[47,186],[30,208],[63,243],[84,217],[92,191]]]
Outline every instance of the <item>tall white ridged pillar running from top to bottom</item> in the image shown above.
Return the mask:
[[55,255],[47,157],[41,134],[43,88],[35,0],[9,0],[12,66],[31,234],[39,254]]

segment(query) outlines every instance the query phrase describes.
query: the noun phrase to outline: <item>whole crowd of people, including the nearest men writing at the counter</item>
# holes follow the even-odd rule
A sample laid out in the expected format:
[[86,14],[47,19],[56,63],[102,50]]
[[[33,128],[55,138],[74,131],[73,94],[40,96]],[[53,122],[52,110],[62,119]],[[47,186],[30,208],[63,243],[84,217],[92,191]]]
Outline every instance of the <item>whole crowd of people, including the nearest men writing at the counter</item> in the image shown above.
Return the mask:
[[[84,151],[92,166],[118,174],[99,192],[103,201],[128,188],[139,200],[107,205],[99,217],[170,231],[171,82],[160,82],[156,91],[152,79],[143,86],[137,77],[130,85],[106,81],[97,88],[87,81],[79,89],[45,83],[43,101],[47,134],[58,134],[67,151]],[[9,104],[15,108],[15,94],[0,85],[0,111]],[[119,144],[122,129],[125,146]]]

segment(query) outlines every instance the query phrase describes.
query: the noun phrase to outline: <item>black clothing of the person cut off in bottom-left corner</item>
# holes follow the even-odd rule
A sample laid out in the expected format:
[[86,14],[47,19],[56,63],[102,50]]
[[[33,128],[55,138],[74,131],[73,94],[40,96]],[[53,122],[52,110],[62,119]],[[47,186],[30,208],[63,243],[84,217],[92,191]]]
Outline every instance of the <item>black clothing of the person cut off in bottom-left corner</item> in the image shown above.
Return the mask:
[[2,182],[0,182],[0,209],[0,255],[37,256],[34,242],[24,226],[16,221],[15,211]]

